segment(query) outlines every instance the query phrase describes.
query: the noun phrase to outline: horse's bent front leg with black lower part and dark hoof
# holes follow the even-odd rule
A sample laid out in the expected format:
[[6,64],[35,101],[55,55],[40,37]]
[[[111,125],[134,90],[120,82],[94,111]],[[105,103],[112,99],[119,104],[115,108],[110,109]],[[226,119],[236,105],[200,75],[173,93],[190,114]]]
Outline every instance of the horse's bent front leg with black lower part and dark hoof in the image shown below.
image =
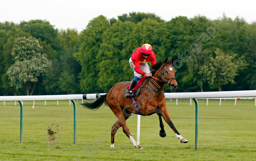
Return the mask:
[[159,117],[160,128],[161,128],[161,130],[159,132],[159,135],[164,138],[166,136],[166,133],[165,133],[164,124],[163,124],[163,121],[162,121],[162,112],[161,112],[161,110],[158,109],[158,108],[155,108],[154,106],[147,105],[146,115],[149,116],[149,115],[152,115],[154,113],[156,113]]

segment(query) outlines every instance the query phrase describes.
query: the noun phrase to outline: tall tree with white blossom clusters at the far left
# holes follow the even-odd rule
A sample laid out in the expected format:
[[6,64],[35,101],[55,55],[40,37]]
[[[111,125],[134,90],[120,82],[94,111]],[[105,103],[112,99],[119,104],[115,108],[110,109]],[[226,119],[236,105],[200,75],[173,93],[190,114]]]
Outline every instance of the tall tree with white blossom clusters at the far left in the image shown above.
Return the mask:
[[[16,89],[25,86],[26,95],[32,95],[36,82],[44,76],[49,65],[52,64],[45,54],[41,54],[42,47],[37,39],[29,37],[16,38],[12,48],[15,63],[7,70],[10,85]],[[30,92],[30,88],[33,89]]]

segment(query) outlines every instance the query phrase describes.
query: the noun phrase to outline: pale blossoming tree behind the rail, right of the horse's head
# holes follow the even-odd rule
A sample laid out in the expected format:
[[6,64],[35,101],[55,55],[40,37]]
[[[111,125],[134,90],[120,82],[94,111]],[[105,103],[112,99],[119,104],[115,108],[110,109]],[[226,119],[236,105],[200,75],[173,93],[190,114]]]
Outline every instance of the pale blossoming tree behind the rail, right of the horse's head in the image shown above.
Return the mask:
[[228,83],[235,83],[234,78],[238,71],[245,68],[246,61],[242,58],[236,58],[237,54],[225,54],[217,49],[216,57],[211,57],[210,63],[201,67],[199,74],[203,74],[203,80],[207,80],[210,88],[218,88]]

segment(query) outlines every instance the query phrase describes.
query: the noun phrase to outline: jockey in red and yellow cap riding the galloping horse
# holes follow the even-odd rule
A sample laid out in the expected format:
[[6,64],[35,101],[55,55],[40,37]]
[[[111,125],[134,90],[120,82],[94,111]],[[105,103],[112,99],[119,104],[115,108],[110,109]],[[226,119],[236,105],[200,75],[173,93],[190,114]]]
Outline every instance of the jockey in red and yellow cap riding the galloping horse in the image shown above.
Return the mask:
[[137,81],[142,75],[147,77],[152,76],[148,62],[151,62],[151,65],[156,63],[155,53],[152,51],[151,45],[144,44],[133,52],[132,57],[129,60],[130,66],[133,69],[134,78],[127,93],[125,94],[125,97],[133,97],[131,89],[135,87]]

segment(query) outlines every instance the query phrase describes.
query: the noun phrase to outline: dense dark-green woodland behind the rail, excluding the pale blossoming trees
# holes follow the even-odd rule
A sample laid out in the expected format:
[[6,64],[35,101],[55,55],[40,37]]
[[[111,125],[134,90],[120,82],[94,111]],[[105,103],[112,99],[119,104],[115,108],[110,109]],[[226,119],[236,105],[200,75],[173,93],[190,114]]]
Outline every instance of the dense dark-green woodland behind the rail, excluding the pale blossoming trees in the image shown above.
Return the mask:
[[[155,14],[132,12],[118,19],[100,15],[81,33],[75,29],[58,31],[46,20],[0,23],[0,95],[25,94],[25,88],[17,90],[10,86],[6,75],[15,63],[11,53],[14,40],[19,37],[36,38],[42,54],[53,62],[48,72],[38,79],[35,95],[108,92],[120,81],[131,81],[129,58],[144,43],[152,45],[157,60],[166,57],[180,60],[182,65],[176,68],[175,75],[177,92],[256,89],[256,23],[248,24],[240,18],[228,18],[228,24],[215,21],[204,16],[190,19],[179,16],[165,22]],[[210,26],[215,29],[212,35],[207,32]],[[187,52],[186,58],[187,49],[192,52],[190,55]],[[228,63],[224,63],[226,66],[216,63],[217,50],[227,57],[236,55],[234,59],[241,59],[246,65],[234,68],[231,81],[211,84],[211,78],[205,77],[206,70],[200,72],[200,69],[209,69],[212,62],[222,68],[233,68]],[[170,92],[167,87],[165,92]]]

